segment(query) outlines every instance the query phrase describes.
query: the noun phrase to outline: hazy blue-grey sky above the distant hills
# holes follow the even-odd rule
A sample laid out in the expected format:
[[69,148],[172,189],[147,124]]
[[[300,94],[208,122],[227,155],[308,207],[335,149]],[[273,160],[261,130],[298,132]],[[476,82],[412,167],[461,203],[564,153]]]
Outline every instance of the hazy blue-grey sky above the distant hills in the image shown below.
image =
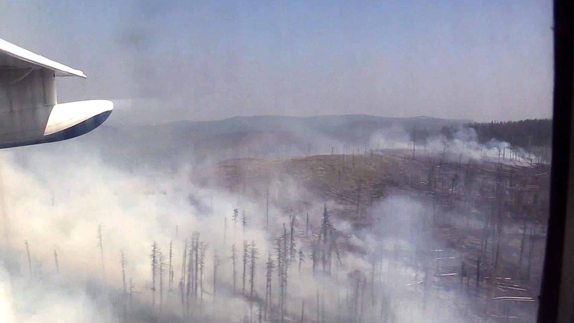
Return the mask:
[[161,102],[118,107],[120,117],[552,111],[549,0],[24,0],[0,10],[0,37],[86,72],[60,82],[61,101]]

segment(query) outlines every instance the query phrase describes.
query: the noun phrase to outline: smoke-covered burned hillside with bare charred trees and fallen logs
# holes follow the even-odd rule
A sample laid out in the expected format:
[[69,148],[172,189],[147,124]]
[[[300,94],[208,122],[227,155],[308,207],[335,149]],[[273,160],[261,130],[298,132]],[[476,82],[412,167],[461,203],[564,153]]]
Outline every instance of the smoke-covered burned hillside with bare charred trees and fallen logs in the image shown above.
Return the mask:
[[548,148],[460,132],[125,170],[73,149],[84,166],[42,153],[67,172],[5,154],[14,317],[60,306],[72,321],[534,321]]

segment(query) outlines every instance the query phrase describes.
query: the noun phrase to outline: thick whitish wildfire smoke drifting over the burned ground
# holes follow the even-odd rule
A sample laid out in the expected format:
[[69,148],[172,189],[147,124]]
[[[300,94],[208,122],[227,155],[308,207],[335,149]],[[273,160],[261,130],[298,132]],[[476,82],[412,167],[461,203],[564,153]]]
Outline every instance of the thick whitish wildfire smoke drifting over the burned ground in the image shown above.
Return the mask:
[[[430,215],[434,213],[432,203],[421,201],[416,194],[390,193],[377,202],[371,202],[369,214],[377,224],[371,229],[357,229],[354,220],[346,220],[345,216],[349,207],[354,212],[353,206],[337,199],[320,197],[317,192],[307,191],[300,180],[278,172],[271,186],[267,186],[271,196],[267,227],[265,189],[254,196],[241,194],[241,190],[223,189],[216,184],[215,178],[208,186],[190,180],[196,172],[207,170],[208,164],[223,159],[214,155],[207,162],[196,163],[189,158],[190,155],[183,154],[177,155],[175,162],[163,163],[169,167],[158,167],[157,163],[148,164],[149,160],[142,155],[135,164],[128,156],[110,152],[110,149],[117,149],[111,148],[113,146],[94,145],[94,140],[102,141],[102,135],[110,135],[107,134],[110,129],[100,130],[105,133],[2,152],[6,241],[2,248],[2,306],[9,309],[6,313],[15,322],[45,321],[52,317],[61,322],[121,322],[126,321],[126,317],[128,321],[146,322],[158,318],[185,321],[186,317],[222,322],[239,322],[247,317],[249,321],[258,321],[258,310],[263,308],[266,290],[267,256],[271,254],[277,261],[276,239],[284,233],[283,224],[287,226],[290,244],[292,234],[289,226],[293,217],[296,219],[293,233],[295,255],[292,260],[281,260],[289,263],[284,264],[289,268],[289,279],[287,301],[282,312],[289,320],[300,317],[301,306],[307,311],[305,321],[317,321],[317,307],[320,320],[325,321],[374,322],[385,318],[396,322],[460,322],[483,318],[474,308],[476,300],[466,296],[458,287],[449,287],[455,286],[459,279],[449,272],[460,267],[456,264],[459,260],[432,260],[459,259],[459,256],[447,246],[447,240],[433,233],[436,216]],[[399,129],[384,130],[376,138],[390,143],[400,136],[387,133],[399,132]],[[467,143],[464,146],[466,161],[463,163],[483,156],[466,155],[472,153],[472,147],[468,146],[472,138],[472,134],[466,137],[457,135],[453,141]],[[315,144],[320,145],[320,142]],[[393,147],[380,148],[402,148],[400,144],[401,141],[397,140]],[[442,149],[443,146],[440,147]],[[127,145],[123,148],[130,149]],[[440,156],[440,151],[436,151],[432,144],[426,149],[435,149],[433,154]],[[478,151],[479,148],[474,149]],[[166,155],[164,158],[173,157]],[[118,168],[117,164],[125,167]],[[257,182],[250,183],[255,184]],[[265,187],[268,184],[261,182],[261,185]],[[335,254],[328,256],[326,269],[321,264],[324,262],[321,249],[313,247],[321,241],[317,239],[320,239],[319,234],[324,227],[321,223],[324,219],[323,202],[327,202],[327,210],[331,214],[332,223],[328,227],[333,229],[333,233],[329,234],[335,239],[328,240],[328,243],[336,241],[333,248],[337,248],[339,253],[337,257]],[[234,209],[238,209],[237,222],[232,220]],[[310,230],[305,224],[304,214],[307,213]],[[243,214],[247,215],[245,229]],[[452,221],[456,224],[460,220]],[[482,228],[480,221],[476,225]],[[99,248],[99,228],[102,249]],[[204,287],[199,289],[199,300],[194,301],[192,296],[191,314],[188,314],[187,305],[182,309],[178,284],[184,245],[187,241],[185,248],[189,252],[193,232],[199,232],[198,240],[207,247],[201,280]],[[235,295],[232,288],[231,246],[235,244],[238,253],[237,281],[242,282],[243,240],[248,244],[253,241],[258,251],[254,298],[249,292],[249,260],[246,296],[239,291],[242,283],[238,283]],[[161,314],[157,273],[153,306],[151,301],[150,252],[154,242],[164,257],[163,271],[167,270],[170,242],[173,246],[174,278],[173,283],[169,283],[169,278],[165,278],[169,275],[163,274]],[[298,270],[298,250],[306,257],[301,271]],[[316,274],[313,274],[310,259],[313,250],[317,252]],[[328,247],[328,250],[332,252],[333,249]],[[126,293],[122,282],[122,252],[126,259]],[[219,296],[215,303],[212,298],[214,256],[219,261],[216,278]],[[188,270],[184,267],[184,272]],[[325,270],[330,274],[325,274]],[[280,284],[277,268],[273,273],[272,307],[268,309],[267,320],[280,321],[277,317],[281,313],[277,307]],[[443,274],[446,276],[440,276]],[[431,277],[434,278],[431,280]],[[130,281],[133,283],[132,293]],[[187,293],[185,290],[184,285],[184,294]]]

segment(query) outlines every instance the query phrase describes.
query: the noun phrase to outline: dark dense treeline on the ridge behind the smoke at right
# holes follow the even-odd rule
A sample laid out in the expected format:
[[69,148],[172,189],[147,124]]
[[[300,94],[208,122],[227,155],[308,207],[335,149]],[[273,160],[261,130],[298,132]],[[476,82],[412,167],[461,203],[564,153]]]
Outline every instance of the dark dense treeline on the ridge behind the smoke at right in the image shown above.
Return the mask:
[[[506,141],[515,147],[549,146],[552,144],[552,119],[527,119],[520,121],[473,122],[464,127],[476,132],[479,143],[492,139]],[[458,126],[443,126],[440,129],[410,129],[410,140],[425,143],[429,137],[439,134],[451,140],[460,130]]]

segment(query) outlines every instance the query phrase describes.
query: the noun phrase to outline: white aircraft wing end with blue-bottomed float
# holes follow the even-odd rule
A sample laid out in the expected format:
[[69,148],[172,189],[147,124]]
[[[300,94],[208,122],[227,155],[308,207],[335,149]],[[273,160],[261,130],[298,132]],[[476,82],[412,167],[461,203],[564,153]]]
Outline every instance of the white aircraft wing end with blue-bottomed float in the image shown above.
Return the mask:
[[0,39],[0,148],[77,137],[110,116],[111,101],[58,103],[57,76],[87,78],[80,70]]

